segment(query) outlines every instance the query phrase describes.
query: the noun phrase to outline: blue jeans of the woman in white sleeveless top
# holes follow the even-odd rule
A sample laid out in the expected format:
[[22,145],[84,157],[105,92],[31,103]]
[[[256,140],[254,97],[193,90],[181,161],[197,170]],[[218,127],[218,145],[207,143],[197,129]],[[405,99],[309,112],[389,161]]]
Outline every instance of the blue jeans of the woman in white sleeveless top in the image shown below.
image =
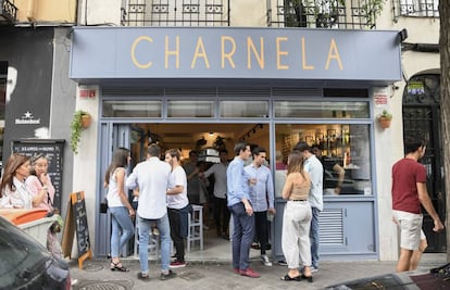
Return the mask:
[[[111,257],[118,257],[120,251],[133,237],[135,227],[125,206],[110,207],[111,213]],[[121,235],[122,231],[122,235]]]

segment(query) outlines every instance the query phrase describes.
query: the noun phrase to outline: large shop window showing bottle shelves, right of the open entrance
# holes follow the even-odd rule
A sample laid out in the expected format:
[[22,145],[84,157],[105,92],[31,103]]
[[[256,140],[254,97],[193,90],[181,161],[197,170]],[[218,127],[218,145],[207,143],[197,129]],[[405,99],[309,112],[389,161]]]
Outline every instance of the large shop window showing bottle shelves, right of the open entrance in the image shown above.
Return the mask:
[[372,196],[368,131],[360,124],[276,124],[276,197],[282,197],[287,157],[299,141],[322,161],[324,196]]

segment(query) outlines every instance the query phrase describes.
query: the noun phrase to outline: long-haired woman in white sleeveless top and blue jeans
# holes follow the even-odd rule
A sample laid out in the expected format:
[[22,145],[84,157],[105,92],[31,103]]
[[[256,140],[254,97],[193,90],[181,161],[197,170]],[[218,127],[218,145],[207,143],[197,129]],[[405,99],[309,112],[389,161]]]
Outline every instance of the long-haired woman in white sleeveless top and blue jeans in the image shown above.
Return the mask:
[[[118,148],[104,175],[104,186],[108,187],[108,207],[111,213],[111,270],[128,272],[118,260],[118,252],[133,237],[135,231],[132,218],[135,210],[128,201],[125,188],[126,167],[129,164],[129,150]],[[121,236],[122,231],[122,236]]]

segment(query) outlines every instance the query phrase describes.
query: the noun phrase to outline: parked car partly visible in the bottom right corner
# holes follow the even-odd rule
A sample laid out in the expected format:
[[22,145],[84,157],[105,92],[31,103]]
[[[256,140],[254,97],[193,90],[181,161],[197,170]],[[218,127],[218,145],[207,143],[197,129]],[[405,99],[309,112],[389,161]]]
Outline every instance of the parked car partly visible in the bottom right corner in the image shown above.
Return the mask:
[[450,289],[450,264],[433,268],[429,273],[403,272],[386,274],[370,278],[351,280],[334,286],[328,286],[326,290],[438,290]]

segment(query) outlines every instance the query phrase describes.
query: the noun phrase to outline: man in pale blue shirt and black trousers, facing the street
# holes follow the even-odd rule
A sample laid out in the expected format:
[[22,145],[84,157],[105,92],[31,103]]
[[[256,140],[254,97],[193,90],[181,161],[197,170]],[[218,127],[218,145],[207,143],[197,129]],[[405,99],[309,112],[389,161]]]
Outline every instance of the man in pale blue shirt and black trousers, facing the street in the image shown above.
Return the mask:
[[257,230],[257,239],[260,242],[261,248],[261,261],[264,266],[272,266],[272,262],[268,260],[265,251],[268,243],[268,214],[275,214],[274,207],[274,185],[272,179],[271,169],[263,165],[266,157],[266,151],[264,148],[257,147],[252,152],[253,162],[245,167],[250,180],[250,200],[252,201],[254,212],[254,228]]

